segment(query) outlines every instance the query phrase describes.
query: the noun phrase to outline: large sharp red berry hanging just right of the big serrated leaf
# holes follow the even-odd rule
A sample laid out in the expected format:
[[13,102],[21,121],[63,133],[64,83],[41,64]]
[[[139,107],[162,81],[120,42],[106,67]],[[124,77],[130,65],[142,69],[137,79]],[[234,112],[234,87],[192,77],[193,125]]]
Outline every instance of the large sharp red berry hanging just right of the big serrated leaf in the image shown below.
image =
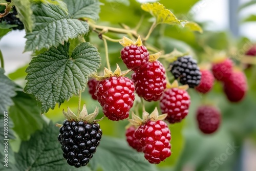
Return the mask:
[[129,117],[135,99],[132,80],[112,76],[99,81],[96,89],[96,96],[106,117],[110,120],[123,120]]

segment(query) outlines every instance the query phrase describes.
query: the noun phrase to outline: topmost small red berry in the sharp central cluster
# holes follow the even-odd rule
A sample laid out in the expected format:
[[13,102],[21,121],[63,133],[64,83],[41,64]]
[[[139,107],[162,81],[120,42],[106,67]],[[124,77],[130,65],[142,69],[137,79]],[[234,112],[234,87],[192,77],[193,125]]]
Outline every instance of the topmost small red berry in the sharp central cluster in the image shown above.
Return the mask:
[[121,58],[128,69],[137,71],[147,66],[150,54],[146,47],[131,45],[121,50]]

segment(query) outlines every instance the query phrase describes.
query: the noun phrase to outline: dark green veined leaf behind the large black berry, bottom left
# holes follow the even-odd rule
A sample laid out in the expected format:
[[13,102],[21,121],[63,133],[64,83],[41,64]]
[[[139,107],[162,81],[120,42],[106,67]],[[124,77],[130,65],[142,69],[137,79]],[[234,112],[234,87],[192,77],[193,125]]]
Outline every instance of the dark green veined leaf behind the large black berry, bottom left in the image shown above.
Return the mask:
[[61,145],[57,140],[59,129],[52,122],[44,124],[41,131],[23,141],[15,154],[19,170],[90,170],[88,167],[70,166],[62,156]]

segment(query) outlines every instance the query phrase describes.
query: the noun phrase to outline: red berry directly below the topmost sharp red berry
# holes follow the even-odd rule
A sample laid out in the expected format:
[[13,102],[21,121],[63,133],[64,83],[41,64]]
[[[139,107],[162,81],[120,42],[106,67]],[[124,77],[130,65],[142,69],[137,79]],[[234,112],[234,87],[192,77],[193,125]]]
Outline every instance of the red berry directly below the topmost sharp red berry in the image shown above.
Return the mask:
[[157,101],[166,88],[165,69],[161,62],[147,62],[147,66],[132,74],[135,90],[146,101]]

